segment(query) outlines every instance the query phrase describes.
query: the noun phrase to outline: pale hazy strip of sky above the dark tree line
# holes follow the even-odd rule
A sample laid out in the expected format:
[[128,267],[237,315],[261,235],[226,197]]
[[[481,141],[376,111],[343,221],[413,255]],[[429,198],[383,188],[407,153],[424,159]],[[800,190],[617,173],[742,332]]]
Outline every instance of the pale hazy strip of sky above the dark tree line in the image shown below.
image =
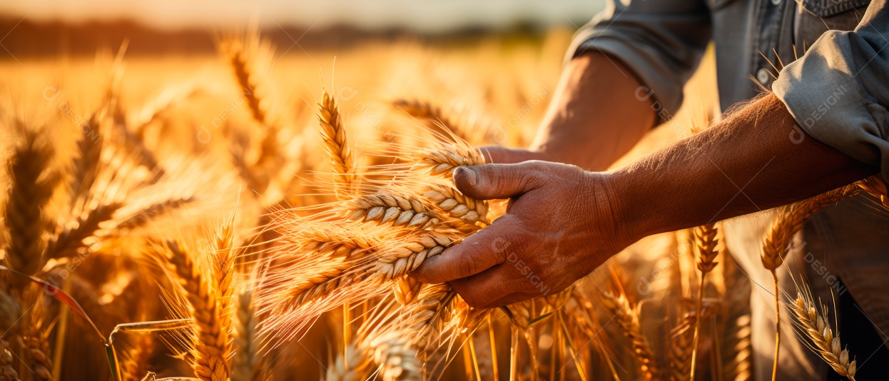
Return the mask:
[[0,14],[76,23],[129,19],[164,29],[246,26],[252,20],[262,27],[348,24],[436,32],[507,26],[518,20],[571,25],[571,20],[591,18],[602,4],[603,0],[4,0]]

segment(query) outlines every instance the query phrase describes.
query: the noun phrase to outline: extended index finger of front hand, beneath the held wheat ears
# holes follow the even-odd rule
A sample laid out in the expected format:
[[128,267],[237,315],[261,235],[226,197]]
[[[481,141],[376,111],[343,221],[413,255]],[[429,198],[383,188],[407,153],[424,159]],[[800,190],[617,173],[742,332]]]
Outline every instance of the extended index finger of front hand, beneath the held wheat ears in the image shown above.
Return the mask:
[[[420,282],[443,283],[481,273],[506,260],[509,237],[517,231],[512,216],[498,218],[491,226],[470,235],[462,243],[426,258],[412,275]],[[517,241],[517,238],[513,238]]]

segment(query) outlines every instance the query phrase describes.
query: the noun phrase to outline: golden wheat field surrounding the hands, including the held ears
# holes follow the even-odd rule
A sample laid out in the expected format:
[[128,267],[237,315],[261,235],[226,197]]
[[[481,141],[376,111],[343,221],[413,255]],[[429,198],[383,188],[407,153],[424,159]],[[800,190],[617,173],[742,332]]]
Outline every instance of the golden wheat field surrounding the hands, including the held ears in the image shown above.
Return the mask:
[[[718,223],[500,309],[407,276],[504,213],[451,173],[530,144],[570,36],[0,62],[0,378],[751,379],[750,285]],[[713,76],[621,162],[705,128]],[[885,202],[868,179],[777,210],[763,266],[860,192]],[[829,301],[777,294],[801,332],[781,339],[854,379]]]

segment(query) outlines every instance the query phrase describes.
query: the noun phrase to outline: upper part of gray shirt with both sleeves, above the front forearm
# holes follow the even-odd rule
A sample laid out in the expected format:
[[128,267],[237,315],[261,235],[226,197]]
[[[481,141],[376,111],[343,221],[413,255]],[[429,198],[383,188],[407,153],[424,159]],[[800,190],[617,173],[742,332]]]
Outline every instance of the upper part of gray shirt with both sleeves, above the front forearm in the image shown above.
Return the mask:
[[773,90],[809,135],[880,165],[889,179],[886,0],[606,4],[575,36],[569,54],[603,52],[621,60],[650,89],[665,110],[661,116],[682,104],[683,84],[712,40],[723,110],[763,88]]

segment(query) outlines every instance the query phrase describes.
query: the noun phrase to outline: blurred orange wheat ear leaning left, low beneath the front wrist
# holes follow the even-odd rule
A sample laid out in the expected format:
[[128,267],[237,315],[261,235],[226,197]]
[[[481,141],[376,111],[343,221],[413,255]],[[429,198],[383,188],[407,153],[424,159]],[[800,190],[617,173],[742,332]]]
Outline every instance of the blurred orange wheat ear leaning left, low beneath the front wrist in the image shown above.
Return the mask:
[[611,292],[602,293],[602,306],[605,307],[610,314],[613,314],[614,320],[621,326],[623,335],[629,338],[632,345],[633,356],[639,361],[640,369],[645,375],[645,379],[658,379],[660,373],[654,364],[654,354],[651,346],[648,345],[648,339],[642,333],[642,326],[639,323],[637,312],[629,306],[627,298],[623,295],[616,296]]

